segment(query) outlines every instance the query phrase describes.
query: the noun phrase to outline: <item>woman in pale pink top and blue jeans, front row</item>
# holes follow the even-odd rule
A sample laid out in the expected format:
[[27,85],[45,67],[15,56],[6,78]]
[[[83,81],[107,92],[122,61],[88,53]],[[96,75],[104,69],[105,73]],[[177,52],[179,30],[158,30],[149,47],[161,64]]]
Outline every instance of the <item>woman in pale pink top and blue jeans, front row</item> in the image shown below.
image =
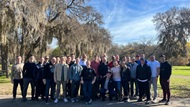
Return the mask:
[[118,64],[118,61],[114,61],[114,67],[111,68],[113,80],[114,80],[114,88],[117,92],[116,100],[121,101],[121,67]]

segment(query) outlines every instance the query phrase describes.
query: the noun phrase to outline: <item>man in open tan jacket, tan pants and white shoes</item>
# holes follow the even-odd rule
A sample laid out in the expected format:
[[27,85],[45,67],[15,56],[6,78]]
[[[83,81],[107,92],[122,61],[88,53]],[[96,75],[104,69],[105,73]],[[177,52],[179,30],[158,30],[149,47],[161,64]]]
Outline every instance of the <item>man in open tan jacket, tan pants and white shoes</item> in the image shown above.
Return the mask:
[[56,91],[56,99],[54,103],[58,103],[58,98],[60,94],[60,88],[62,85],[63,88],[63,97],[64,102],[68,102],[67,100],[67,90],[66,90],[66,84],[69,80],[69,65],[66,64],[66,57],[61,57],[60,63],[55,65],[55,71],[54,71],[54,82],[57,85],[57,91]]

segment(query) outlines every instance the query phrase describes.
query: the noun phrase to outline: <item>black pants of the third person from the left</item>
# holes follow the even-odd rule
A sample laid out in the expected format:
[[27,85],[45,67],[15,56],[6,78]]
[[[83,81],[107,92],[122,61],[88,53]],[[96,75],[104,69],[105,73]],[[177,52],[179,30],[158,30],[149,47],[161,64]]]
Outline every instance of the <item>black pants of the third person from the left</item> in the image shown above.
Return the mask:
[[45,85],[42,80],[36,81],[36,95],[35,98],[38,99],[38,97],[41,95],[41,98],[43,99],[45,96]]

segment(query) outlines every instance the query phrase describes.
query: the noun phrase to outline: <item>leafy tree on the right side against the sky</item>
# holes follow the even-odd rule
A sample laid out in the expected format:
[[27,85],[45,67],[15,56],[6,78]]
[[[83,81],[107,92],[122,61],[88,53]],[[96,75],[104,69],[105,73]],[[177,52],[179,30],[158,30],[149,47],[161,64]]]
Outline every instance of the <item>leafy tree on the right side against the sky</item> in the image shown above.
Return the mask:
[[158,31],[159,46],[168,57],[186,56],[186,43],[190,34],[190,9],[171,8],[157,13],[153,22]]

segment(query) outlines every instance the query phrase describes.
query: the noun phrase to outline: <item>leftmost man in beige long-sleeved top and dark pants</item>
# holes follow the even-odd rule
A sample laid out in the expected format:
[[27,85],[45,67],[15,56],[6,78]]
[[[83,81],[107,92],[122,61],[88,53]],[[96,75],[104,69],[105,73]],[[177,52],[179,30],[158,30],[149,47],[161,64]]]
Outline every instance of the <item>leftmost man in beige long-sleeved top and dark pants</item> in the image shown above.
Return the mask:
[[20,84],[21,95],[23,93],[23,66],[24,64],[22,63],[22,57],[18,56],[16,59],[16,64],[12,66],[11,70],[11,83],[13,84],[13,101],[16,99],[18,84]]

